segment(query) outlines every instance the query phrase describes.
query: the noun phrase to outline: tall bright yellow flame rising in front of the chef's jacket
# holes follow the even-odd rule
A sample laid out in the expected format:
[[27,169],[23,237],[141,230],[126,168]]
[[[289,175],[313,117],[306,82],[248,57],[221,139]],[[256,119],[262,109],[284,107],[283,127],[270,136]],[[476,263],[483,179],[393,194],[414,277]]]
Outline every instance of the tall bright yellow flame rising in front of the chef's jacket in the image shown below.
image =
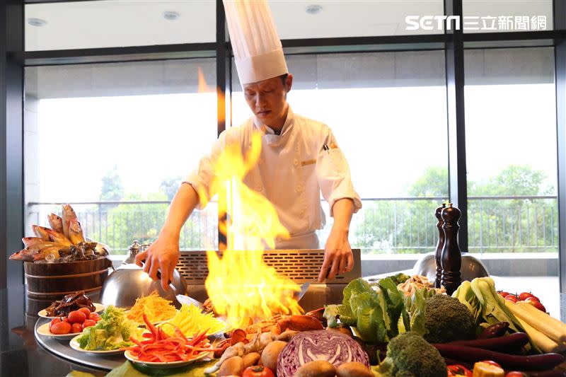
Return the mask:
[[[275,313],[303,313],[293,293],[299,286],[277,274],[262,259],[265,248],[275,248],[276,237],[289,237],[272,204],[243,183],[246,173],[258,163],[261,135],[253,135],[251,148],[243,156],[239,144],[229,144],[216,161],[219,211],[227,214],[228,247],[220,258],[209,251],[207,294],[216,313],[226,315],[233,327]],[[200,195],[206,197],[206,195]]]

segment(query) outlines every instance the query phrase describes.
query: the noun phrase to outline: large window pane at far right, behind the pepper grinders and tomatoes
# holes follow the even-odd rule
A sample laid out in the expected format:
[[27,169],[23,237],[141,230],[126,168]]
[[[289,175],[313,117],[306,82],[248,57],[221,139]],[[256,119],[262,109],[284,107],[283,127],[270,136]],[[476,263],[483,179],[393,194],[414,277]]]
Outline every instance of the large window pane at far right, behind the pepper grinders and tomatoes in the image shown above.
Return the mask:
[[[558,258],[553,54],[551,47],[466,51],[468,243],[483,257]],[[558,274],[554,265],[543,271]]]

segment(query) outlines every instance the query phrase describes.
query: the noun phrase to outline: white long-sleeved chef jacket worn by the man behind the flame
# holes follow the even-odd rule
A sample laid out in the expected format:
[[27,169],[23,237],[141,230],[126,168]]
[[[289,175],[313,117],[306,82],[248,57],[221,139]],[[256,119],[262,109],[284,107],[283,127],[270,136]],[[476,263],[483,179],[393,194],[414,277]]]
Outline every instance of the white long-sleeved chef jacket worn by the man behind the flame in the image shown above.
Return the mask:
[[[198,193],[206,193],[200,203],[209,202],[212,192],[214,161],[227,143],[241,145],[242,153],[250,149],[252,134],[262,134],[262,149],[258,165],[243,178],[243,182],[264,195],[275,207],[282,225],[291,238],[276,238],[277,249],[318,249],[315,231],[324,227],[325,214],[320,206],[320,192],[330,205],[350,198],[354,212],[362,208],[359,195],[354,191],[350,168],[335,137],[323,123],[296,115],[289,108],[281,134],[270,127],[261,126],[251,117],[239,127],[231,127],[220,134],[212,152],[204,156],[184,182]],[[204,199],[204,200],[203,200]],[[202,204],[197,205],[202,209]]]

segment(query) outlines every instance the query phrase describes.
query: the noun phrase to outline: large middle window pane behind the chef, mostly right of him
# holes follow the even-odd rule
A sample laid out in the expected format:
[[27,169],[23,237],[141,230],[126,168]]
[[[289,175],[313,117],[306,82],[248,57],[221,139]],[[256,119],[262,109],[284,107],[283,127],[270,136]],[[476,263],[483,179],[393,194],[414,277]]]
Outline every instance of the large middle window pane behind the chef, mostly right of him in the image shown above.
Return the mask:
[[[299,55],[287,64],[291,108],[333,129],[363,199],[352,247],[368,254],[433,250],[434,209],[448,195],[444,52]],[[250,110],[238,82],[233,91],[238,125]],[[323,208],[322,245],[332,225]]]

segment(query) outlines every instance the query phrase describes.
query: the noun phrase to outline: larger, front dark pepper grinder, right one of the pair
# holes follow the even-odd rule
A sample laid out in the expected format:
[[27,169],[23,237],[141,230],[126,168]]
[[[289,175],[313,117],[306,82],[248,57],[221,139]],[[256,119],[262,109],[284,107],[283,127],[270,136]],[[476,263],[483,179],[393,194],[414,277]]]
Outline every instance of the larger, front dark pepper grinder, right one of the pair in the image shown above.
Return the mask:
[[456,207],[452,207],[452,203],[447,208],[442,209],[441,217],[444,220],[444,246],[442,248],[442,282],[446,288],[446,293],[451,295],[458,289],[462,279],[460,268],[462,266],[462,255],[460,246],[458,246],[458,220],[462,213]]

